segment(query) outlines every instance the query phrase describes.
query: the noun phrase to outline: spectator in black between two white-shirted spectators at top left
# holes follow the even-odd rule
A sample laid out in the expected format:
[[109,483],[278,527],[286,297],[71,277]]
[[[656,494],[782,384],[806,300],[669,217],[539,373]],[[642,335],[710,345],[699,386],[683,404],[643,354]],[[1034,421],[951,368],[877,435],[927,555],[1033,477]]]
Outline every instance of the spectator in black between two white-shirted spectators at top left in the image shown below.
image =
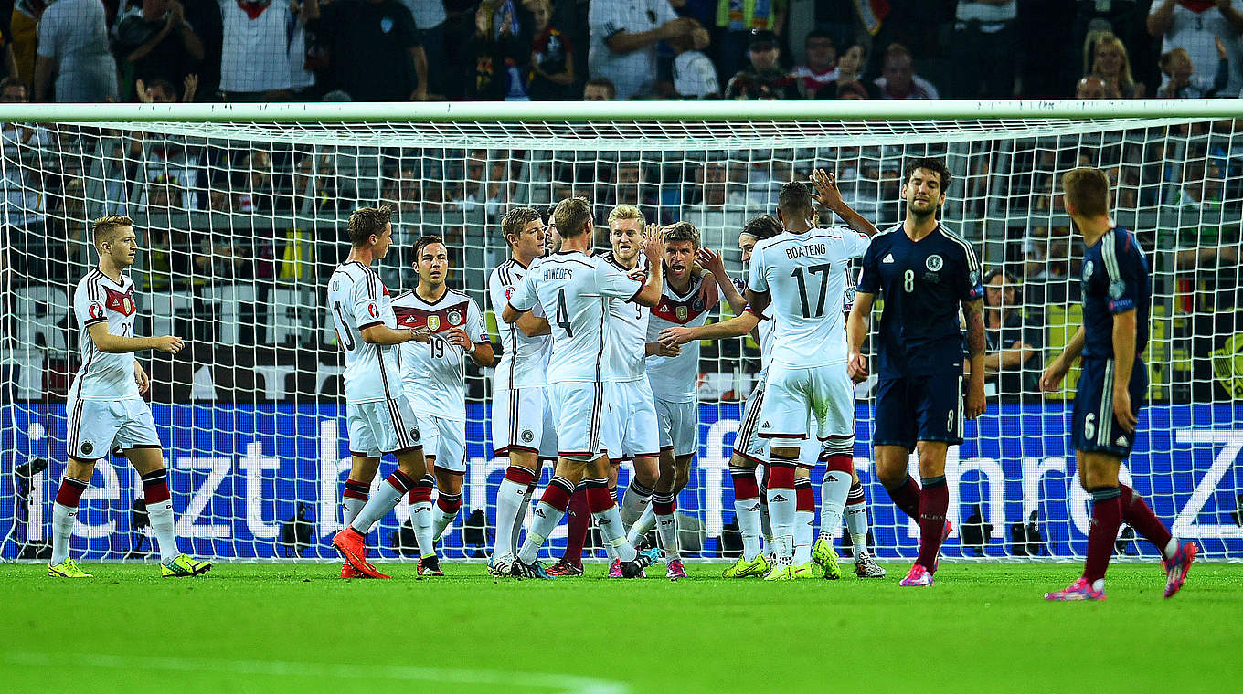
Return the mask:
[[129,97],[138,79],[179,83],[203,62],[203,41],[178,0],[142,0],[112,27],[112,50]]

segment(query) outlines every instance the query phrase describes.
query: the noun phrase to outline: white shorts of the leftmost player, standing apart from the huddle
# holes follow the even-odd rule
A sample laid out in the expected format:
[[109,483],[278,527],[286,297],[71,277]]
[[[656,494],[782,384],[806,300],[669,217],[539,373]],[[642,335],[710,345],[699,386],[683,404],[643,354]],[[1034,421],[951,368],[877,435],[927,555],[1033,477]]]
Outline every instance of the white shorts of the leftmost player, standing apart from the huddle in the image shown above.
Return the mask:
[[116,448],[159,448],[155,420],[142,399],[70,400],[67,449],[72,458],[97,461]]

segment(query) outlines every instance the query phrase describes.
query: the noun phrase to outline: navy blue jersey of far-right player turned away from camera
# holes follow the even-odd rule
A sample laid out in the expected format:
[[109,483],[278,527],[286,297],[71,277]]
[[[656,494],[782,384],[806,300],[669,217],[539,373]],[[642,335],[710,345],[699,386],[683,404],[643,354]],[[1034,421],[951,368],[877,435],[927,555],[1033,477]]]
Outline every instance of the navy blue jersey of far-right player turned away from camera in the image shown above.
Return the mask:
[[1114,356],[1114,315],[1135,309],[1135,354],[1149,345],[1149,261],[1122,227],[1105,232],[1084,251],[1083,262],[1084,353],[1085,358]]

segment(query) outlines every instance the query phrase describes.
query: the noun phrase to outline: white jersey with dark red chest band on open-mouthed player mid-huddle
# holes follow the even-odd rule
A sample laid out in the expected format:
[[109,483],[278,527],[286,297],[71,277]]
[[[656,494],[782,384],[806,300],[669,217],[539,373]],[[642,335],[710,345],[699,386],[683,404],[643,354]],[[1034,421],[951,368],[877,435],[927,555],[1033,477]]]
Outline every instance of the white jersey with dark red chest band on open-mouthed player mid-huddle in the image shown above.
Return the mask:
[[[665,278],[665,291],[660,303],[651,307],[651,319],[648,322],[648,340],[660,341],[660,331],[675,325],[697,328],[707,320],[712,308],[699,297],[704,286],[702,276],[692,276],[685,294],[679,294]],[[682,345],[677,356],[648,358],[648,380],[656,400],[665,402],[695,402],[695,385],[699,382],[700,341],[691,340]]]

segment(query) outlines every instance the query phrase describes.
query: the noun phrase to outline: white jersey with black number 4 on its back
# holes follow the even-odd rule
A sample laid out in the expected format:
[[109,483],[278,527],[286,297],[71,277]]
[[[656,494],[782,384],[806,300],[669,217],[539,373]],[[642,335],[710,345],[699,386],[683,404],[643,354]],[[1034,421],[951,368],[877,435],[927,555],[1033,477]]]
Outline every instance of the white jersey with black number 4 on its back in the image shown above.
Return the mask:
[[602,381],[608,300],[629,302],[643,283],[598,256],[562,251],[531,264],[510,297],[517,310],[543,307],[552,325],[548,382]]

